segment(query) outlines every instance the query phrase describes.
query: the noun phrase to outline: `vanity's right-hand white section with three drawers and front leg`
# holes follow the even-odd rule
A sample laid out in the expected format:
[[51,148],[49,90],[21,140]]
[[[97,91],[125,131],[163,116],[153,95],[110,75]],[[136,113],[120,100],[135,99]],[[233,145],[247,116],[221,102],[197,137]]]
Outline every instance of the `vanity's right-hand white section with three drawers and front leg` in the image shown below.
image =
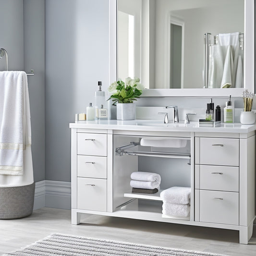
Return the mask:
[[196,135],[195,221],[232,225],[246,244],[255,218],[255,134]]

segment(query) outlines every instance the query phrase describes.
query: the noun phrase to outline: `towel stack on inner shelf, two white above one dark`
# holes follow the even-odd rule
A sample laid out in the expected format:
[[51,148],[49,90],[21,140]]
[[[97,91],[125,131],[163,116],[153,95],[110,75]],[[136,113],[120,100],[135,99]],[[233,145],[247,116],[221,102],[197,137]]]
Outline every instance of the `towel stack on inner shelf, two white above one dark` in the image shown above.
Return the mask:
[[146,171],[133,172],[131,179],[130,185],[134,193],[157,193],[161,183],[161,176],[158,173]]

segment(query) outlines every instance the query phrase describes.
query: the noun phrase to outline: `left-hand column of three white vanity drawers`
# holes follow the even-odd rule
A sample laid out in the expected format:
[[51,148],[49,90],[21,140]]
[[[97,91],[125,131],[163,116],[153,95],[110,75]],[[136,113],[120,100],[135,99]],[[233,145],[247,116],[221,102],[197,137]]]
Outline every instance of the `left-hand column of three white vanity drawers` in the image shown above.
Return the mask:
[[72,173],[72,186],[77,193],[72,206],[107,211],[107,134],[82,130],[75,137],[72,144],[77,149],[73,156],[76,171]]

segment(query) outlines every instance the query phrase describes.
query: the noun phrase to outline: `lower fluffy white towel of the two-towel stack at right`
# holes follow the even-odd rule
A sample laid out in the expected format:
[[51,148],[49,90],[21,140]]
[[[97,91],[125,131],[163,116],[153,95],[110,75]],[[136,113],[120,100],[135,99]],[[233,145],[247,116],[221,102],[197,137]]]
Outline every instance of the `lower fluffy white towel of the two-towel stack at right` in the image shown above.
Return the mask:
[[187,217],[190,214],[190,205],[178,205],[178,204],[169,204],[163,203],[162,213],[165,215],[171,216],[182,216]]

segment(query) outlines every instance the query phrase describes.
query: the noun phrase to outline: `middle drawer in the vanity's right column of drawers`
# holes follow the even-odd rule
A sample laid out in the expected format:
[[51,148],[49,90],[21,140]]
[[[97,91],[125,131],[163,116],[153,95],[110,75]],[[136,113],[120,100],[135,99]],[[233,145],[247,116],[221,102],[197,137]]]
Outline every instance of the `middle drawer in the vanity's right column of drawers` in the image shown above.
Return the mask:
[[200,189],[239,192],[239,167],[200,165]]

